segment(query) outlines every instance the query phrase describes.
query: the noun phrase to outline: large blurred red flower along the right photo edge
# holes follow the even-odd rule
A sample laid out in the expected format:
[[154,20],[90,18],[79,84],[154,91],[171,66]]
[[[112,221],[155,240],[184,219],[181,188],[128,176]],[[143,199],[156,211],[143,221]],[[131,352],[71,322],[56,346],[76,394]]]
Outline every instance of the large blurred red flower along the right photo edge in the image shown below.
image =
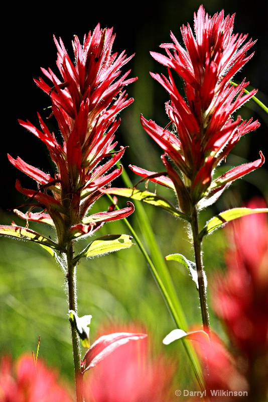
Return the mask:
[[[266,208],[264,199],[246,207]],[[226,228],[227,272],[215,277],[213,308],[227,330],[233,354],[247,378],[252,400],[268,392],[268,220],[252,214]],[[263,400],[264,400],[263,399]],[[250,399],[251,400],[251,399]]]

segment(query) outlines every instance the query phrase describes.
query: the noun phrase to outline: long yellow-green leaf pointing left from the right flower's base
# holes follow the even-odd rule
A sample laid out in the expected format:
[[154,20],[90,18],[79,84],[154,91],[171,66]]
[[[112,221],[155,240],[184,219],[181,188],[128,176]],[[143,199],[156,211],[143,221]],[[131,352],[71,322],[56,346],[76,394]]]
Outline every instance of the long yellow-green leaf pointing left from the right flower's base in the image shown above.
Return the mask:
[[178,211],[166,198],[160,197],[153,192],[141,191],[137,188],[106,188],[103,190],[106,194],[121,195],[123,197],[137,199],[143,203],[151,204],[156,207],[163,208],[164,210],[170,212],[171,214],[183,218],[190,222],[190,216]]

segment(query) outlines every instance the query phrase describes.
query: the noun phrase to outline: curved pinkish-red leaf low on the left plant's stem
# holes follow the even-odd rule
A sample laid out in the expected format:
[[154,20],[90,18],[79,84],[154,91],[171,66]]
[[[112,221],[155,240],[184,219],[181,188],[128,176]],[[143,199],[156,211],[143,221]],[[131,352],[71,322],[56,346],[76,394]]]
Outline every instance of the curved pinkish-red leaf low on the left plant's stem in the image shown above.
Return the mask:
[[105,357],[110,355],[119,346],[129,341],[138,341],[147,337],[147,334],[116,332],[114,334],[103,335],[97,339],[85,354],[84,371],[95,367]]

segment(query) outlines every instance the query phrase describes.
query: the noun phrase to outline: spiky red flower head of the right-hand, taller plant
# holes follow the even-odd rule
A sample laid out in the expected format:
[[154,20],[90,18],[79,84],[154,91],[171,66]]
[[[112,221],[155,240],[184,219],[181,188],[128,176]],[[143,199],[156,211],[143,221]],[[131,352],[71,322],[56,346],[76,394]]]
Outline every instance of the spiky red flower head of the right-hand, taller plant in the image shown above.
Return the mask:
[[[234,15],[224,18],[223,10],[211,18],[200,6],[194,15],[195,35],[189,24],[181,28],[185,49],[171,34],[173,43],[160,46],[167,56],[151,52],[157,61],[168,67],[168,77],[151,75],[170,95],[166,113],[173,131],[168,126],[163,129],[143,116],[141,122],[165,151],[162,160],[184,213],[191,212],[191,206],[204,197],[214,195],[214,202],[216,192],[219,196],[233,180],[264,162],[260,152],[260,159],[255,162],[233,168],[212,180],[215,167],[226,158],[240,137],[259,126],[252,119],[246,122],[239,116],[236,120],[232,118],[233,113],[256,93],[252,90],[244,94],[248,84],[245,80],[237,87],[229,83],[251,58],[252,54],[247,55],[247,51],[254,44],[251,39],[245,43],[247,35],[232,33],[233,20]],[[176,87],[171,69],[183,79],[185,97]],[[151,174],[135,166],[130,169],[142,176]]]

